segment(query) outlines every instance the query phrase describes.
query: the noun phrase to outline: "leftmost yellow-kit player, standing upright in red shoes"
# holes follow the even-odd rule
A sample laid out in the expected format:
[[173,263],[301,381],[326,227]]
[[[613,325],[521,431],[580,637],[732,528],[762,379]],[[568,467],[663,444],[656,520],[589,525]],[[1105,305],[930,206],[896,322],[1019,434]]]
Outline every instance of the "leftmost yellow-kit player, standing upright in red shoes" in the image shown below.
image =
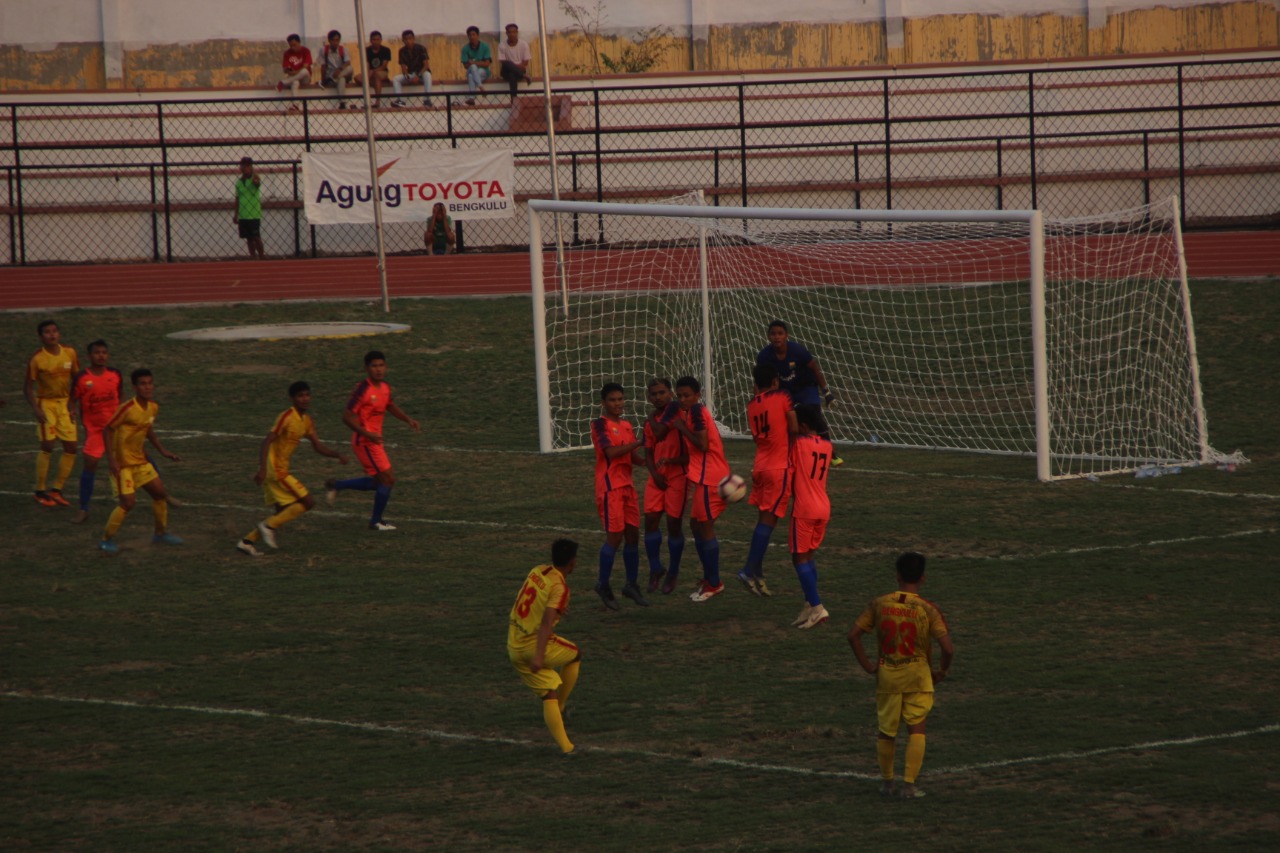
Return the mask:
[[[69,401],[72,396],[72,377],[79,373],[79,359],[76,351],[61,345],[61,332],[54,320],[44,320],[36,327],[40,336],[40,348],[27,362],[27,375],[22,392],[36,414],[36,434],[40,438],[40,453],[36,456],[36,502],[42,506],[70,506],[63,497],[63,483],[76,467],[76,421],[72,418]],[[49,466],[54,459],[54,448],[63,443],[63,457],[58,460],[58,474],[54,488],[45,491],[49,483]]]

